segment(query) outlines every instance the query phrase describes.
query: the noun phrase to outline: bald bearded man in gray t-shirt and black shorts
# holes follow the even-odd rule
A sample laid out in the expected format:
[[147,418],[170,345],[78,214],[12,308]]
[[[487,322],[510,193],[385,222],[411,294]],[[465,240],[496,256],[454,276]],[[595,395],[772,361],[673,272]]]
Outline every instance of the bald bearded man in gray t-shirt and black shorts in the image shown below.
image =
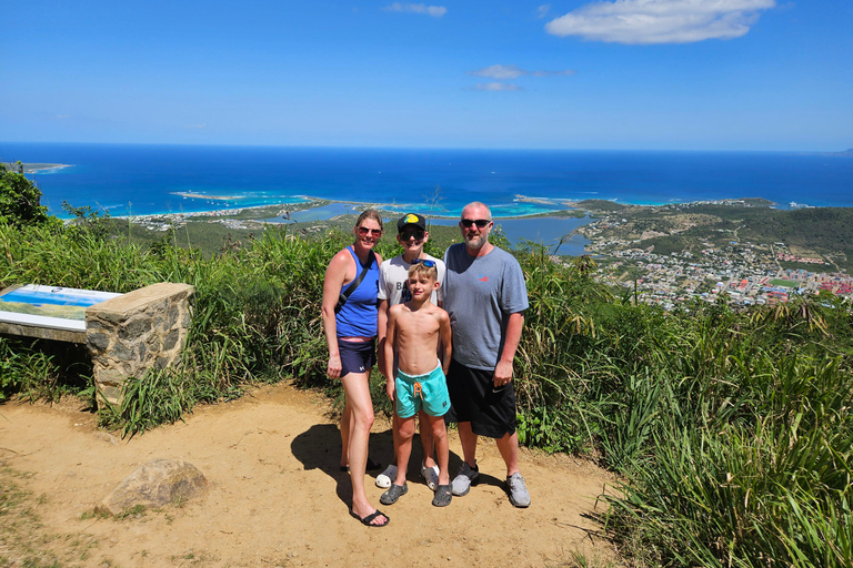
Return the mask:
[[476,485],[478,436],[495,438],[506,463],[510,501],[530,505],[519,473],[515,432],[515,390],[512,365],[524,326],[528,288],[519,262],[489,242],[494,226],[483,203],[462,210],[459,227],[464,243],[444,253],[444,310],[453,329],[453,357],[448,373],[451,409],[444,415],[459,424],[464,462],[453,478],[453,495],[466,495]]

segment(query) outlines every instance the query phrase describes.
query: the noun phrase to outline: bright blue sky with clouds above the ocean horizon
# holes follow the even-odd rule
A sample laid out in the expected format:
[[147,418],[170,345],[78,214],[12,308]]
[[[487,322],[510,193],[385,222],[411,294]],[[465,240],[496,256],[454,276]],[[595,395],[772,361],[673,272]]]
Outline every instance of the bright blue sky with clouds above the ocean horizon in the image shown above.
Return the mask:
[[853,148],[853,0],[3,6],[0,140]]

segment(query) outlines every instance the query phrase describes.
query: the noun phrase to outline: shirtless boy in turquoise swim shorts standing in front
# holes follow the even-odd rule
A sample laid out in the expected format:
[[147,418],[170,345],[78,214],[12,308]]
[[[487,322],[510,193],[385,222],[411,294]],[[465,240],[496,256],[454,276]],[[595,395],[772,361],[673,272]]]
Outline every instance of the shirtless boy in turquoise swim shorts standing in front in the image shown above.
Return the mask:
[[[432,292],[439,286],[435,262],[417,258],[409,268],[409,291],[412,300],[391,306],[388,312],[383,362],[384,375],[388,377],[385,389],[388,396],[394,400],[394,410],[400,417],[400,445],[397,449],[397,479],[380,497],[379,500],[383,505],[393,505],[409,491],[405,470],[412,453],[414,415],[421,407],[426,413],[439,462],[439,486],[432,504],[445,507],[452,498],[448,473],[450,447],[443,418],[450,408],[448,384],[444,379],[451,357],[450,317],[430,301]],[[439,341],[443,355],[441,362],[435,356]],[[398,354],[397,378],[392,378],[394,352]]]

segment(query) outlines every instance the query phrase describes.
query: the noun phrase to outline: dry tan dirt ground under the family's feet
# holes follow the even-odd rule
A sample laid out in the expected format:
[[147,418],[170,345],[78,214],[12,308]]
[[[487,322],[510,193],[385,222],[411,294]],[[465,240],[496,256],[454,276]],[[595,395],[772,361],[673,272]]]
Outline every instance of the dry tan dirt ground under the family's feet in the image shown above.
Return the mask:
[[[377,420],[370,444],[371,457],[387,464],[388,423]],[[409,494],[380,507],[391,518],[388,527],[368,528],[349,515],[350,479],[338,468],[340,435],[328,407],[289,385],[198,407],[185,423],[132,439],[99,430],[93,415],[76,408],[0,405],[0,465],[31,491],[41,521],[34,547],[58,565],[552,567],[570,565],[575,554],[594,566],[619,564],[591,519],[603,510],[596,497],[613,481],[606,471],[522,449],[532,506],[516,509],[506,498],[494,443],[482,440],[480,485],[435,508],[418,475],[417,440],[414,448]],[[451,471],[460,456],[451,433]],[[157,458],[195,465],[209,480],[208,493],[124,518],[92,516],[126,476]],[[372,477],[367,481],[379,505],[382,489]],[[0,566],[21,561],[9,555],[0,546]]]

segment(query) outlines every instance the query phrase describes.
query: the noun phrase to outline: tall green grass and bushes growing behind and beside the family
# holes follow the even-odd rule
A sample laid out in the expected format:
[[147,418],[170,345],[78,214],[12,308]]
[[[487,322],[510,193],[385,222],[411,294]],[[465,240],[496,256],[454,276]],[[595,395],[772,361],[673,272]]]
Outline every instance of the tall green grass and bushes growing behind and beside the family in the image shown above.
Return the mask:
[[[268,229],[207,256],[82,221],[0,224],[0,285],[197,287],[182,371],[129,379],[122,406],[99,410],[106,426],[140,433],[259,382],[340,397],[324,375],[320,301],[327,263],[351,235]],[[379,251],[398,253],[388,237]],[[535,247],[516,256],[530,295],[515,361],[520,438],[621,474],[600,520],[626,562],[853,564],[849,304],[826,295],[663,312],[594,282],[586,257],[562,265]],[[2,396],[94,396],[84,357],[69,372],[68,355],[40,342],[2,338],[0,353]],[[375,374],[373,388],[378,412],[390,412]]]

